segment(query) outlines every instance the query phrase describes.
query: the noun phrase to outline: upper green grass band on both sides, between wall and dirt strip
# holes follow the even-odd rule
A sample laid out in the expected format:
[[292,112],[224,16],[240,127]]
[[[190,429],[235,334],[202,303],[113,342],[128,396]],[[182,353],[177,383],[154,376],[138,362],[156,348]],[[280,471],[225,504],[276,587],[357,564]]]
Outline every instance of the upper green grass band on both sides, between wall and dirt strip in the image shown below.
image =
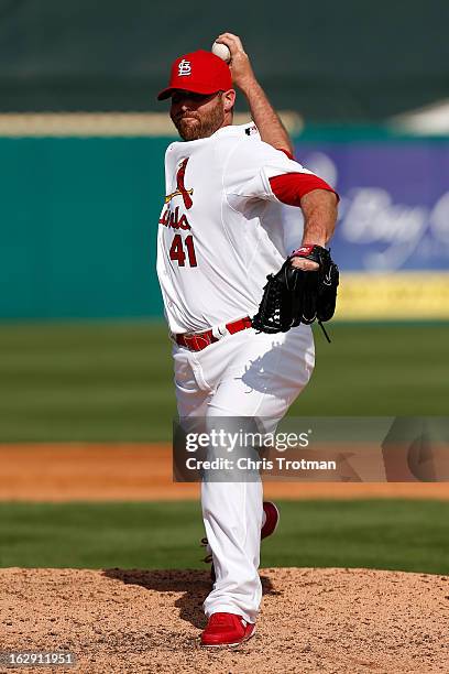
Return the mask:
[[[316,330],[317,367],[292,415],[446,415],[449,324]],[[165,325],[2,325],[0,442],[169,441]]]

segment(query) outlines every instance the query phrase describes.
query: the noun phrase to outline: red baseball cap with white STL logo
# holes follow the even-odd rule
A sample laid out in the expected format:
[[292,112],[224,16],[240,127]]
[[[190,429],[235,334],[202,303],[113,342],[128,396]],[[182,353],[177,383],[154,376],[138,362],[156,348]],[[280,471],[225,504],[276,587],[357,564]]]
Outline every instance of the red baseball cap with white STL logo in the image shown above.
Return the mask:
[[231,70],[225,61],[212,52],[199,50],[176,58],[172,66],[169,84],[157,95],[157,100],[169,98],[174,89],[194,94],[215,94],[232,88]]

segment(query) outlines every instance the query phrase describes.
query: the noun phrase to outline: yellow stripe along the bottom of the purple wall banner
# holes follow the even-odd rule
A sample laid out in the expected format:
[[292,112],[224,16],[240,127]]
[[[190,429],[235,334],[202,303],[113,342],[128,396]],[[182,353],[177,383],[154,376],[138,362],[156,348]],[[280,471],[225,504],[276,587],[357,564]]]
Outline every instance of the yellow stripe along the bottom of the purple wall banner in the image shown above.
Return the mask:
[[341,273],[336,318],[449,319],[449,273]]

